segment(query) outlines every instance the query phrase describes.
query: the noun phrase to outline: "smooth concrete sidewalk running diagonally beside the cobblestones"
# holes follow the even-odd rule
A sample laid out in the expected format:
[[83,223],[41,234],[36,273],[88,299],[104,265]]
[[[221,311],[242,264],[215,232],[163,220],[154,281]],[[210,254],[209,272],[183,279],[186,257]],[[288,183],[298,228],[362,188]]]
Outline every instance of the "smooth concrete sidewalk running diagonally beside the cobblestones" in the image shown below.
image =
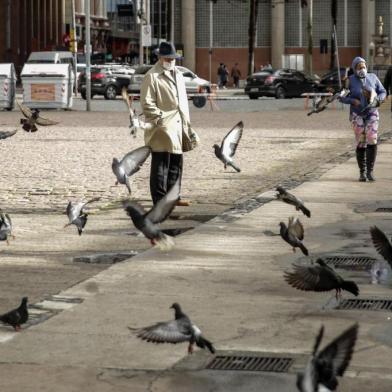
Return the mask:
[[[355,159],[293,192],[312,218],[301,216],[305,244],[317,255],[368,255],[369,226],[392,234],[392,144],[380,145],[377,182],[357,182]],[[391,391],[391,313],[336,310],[334,293],[305,293],[289,287],[283,271],[302,259],[272,234],[293,207],[256,199],[252,209],[233,210],[176,238],[170,253],[151,249],[113,265],[59,294],[58,301],[32,309],[48,320],[21,333],[0,329],[0,390],[7,391],[293,391],[295,371],[312,348],[321,324],[325,342],[353,322],[359,340],[340,391]],[[248,211],[245,211],[248,209]],[[390,281],[371,284],[368,272],[339,272],[360,286],[360,298],[392,299]],[[344,293],[344,298],[352,298]],[[186,345],[153,345],[137,340],[127,326],[172,318],[179,302],[218,349],[293,356],[288,374],[205,370],[212,356],[186,357]],[[57,309],[55,309],[57,308]],[[52,313],[48,313],[49,311]],[[324,343],[325,343],[324,342]],[[390,343],[392,345],[392,343]],[[184,357],[186,357],[184,359]]]

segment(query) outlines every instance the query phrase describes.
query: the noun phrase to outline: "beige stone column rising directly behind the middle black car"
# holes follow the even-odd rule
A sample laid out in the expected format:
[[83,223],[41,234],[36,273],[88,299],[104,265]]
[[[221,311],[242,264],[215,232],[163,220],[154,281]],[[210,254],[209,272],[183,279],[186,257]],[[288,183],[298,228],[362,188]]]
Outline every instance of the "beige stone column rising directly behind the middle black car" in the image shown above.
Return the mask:
[[284,1],[271,2],[271,65],[273,68],[282,67],[284,44]]

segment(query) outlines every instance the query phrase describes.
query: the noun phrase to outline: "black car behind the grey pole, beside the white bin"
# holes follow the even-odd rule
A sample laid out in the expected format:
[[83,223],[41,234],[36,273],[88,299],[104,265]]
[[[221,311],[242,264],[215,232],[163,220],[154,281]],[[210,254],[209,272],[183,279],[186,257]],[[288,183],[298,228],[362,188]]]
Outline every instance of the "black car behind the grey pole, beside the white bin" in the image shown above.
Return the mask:
[[[129,75],[115,74],[109,67],[91,67],[91,98],[94,95],[103,95],[105,99],[116,99],[123,87],[128,88]],[[78,91],[86,99],[86,74],[79,76]]]

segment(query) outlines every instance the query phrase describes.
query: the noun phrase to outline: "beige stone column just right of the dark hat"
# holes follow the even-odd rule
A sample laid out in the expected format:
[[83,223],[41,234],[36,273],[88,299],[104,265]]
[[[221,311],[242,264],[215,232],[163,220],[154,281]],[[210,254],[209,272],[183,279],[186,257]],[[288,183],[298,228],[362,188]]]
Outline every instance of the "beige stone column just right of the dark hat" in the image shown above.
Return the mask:
[[196,70],[196,9],[195,0],[182,0],[181,35],[184,44],[184,66]]

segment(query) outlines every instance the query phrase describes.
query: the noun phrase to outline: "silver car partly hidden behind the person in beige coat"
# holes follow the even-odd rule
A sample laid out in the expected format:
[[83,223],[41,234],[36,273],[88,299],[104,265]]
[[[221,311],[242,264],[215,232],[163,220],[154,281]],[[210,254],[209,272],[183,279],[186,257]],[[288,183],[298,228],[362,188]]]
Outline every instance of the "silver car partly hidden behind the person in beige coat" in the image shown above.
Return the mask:
[[[153,67],[153,65],[141,65],[136,68],[135,73],[131,77],[131,83],[129,84],[128,91],[132,94],[139,94],[140,87],[142,85],[142,81],[144,75]],[[186,92],[188,94],[197,93],[199,90],[210,92],[211,91],[211,83],[208,80],[199,78],[194,72],[190,69],[177,66],[178,70],[182,72],[182,75],[185,79],[185,87]]]

